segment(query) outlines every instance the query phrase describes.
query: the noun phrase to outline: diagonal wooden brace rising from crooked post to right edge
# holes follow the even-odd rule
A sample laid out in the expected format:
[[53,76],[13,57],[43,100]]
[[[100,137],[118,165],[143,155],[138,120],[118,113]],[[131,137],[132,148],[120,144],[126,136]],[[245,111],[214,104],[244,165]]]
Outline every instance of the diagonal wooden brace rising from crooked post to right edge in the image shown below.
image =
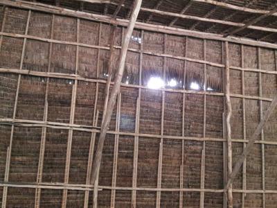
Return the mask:
[[238,158],[238,161],[235,163],[235,166],[229,177],[229,180],[225,184],[224,190],[229,189],[230,185],[232,184],[233,180],[235,179],[235,176],[238,175],[238,172],[240,171],[240,167],[242,166],[244,159],[246,159],[247,155],[249,155],[249,153],[251,152],[256,139],[258,139],[258,136],[262,132],[263,127],[267,123],[269,116],[272,114],[272,112],[274,112],[274,109],[276,106],[277,106],[277,95],[274,97],[274,100],[271,102],[271,105],[269,106],[269,109],[267,110],[267,112],[265,112],[265,116],[262,118],[262,121],[260,121],[255,132],[250,137],[249,142],[248,142],[247,146],[244,148],[242,155],[240,155],[240,157]]

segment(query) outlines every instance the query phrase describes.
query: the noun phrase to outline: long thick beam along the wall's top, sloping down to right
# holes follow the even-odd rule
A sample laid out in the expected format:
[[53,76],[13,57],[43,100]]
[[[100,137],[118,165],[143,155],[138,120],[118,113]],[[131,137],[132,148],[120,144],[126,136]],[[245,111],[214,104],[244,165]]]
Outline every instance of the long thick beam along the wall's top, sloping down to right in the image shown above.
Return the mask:
[[[106,15],[96,15],[91,14],[88,12],[81,12],[75,10],[69,10],[66,8],[60,8],[57,6],[50,6],[43,3],[34,3],[28,1],[10,1],[10,0],[3,0],[0,2],[2,5],[6,6],[13,6],[17,8],[29,9],[29,10],[36,10],[41,12],[49,12],[55,15],[65,15],[69,17],[78,17],[81,19],[89,19],[93,21],[101,21],[108,24],[116,24],[118,26],[127,26],[129,24],[129,20],[127,19],[112,19]],[[271,44],[267,42],[259,42],[255,40],[248,40],[246,38],[240,37],[223,37],[223,35],[216,35],[213,33],[203,33],[197,31],[190,31],[181,28],[174,28],[170,26],[161,26],[156,24],[147,24],[143,22],[136,22],[135,28],[143,29],[145,31],[154,31],[159,33],[168,33],[174,35],[186,35],[190,37],[199,37],[202,39],[208,40],[220,40],[220,41],[227,41],[227,42],[235,42],[239,44],[247,44],[250,46],[261,46],[270,49],[277,49],[276,44]]]

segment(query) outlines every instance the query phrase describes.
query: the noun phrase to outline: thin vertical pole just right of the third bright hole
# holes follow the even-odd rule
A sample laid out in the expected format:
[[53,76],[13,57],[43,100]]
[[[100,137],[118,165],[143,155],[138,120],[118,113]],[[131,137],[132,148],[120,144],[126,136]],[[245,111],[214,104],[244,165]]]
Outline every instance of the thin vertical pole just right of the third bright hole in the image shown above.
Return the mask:
[[[206,61],[206,40],[204,40],[204,61]],[[206,64],[204,64],[204,92],[206,92],[206,85],[207,85],[207,77],[206,77]],[[203,137],[206,137],[206,94],[204,94],[204,121],[203,121]],[[206,142],[203,141],[203,147],[202,147],[202,157],[201,157],[201,178],[200,178],[200,189],[202,189],[200,193],[200,208],[204,208],[204,191],[205,189],[205,148],[206,148]]]

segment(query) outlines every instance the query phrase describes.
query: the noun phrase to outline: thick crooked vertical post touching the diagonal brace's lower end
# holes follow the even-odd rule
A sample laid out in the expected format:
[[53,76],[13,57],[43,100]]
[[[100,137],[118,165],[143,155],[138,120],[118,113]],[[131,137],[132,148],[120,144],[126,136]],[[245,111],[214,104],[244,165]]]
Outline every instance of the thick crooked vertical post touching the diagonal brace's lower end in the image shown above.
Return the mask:
[[[225,42],[225,98],[226,98],[226,135],[227,135],[227,159],[228,159],[228,176],[232,173],[232,141],[231,141],[231,98],[230,98],[230,69],[229,69],[229,44]],[[233,207],[232,185],[228,189],[228,206]]]

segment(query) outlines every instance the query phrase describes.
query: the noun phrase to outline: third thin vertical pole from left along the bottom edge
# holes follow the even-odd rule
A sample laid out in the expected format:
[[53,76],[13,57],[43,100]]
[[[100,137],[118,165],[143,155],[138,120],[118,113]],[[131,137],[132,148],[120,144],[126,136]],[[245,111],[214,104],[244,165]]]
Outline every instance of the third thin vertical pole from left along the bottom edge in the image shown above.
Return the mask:
[[[77,43],[79,42],[79,31],[80,31],[80,19],[77,19]],[[79,46],[76,46],[76,57],[75,57],[75,75],[78,75],[78,65],[79,65]],[[70,111],[70,119],[69,123],[74,123],[74,116],[75,116],[75,105],[76,105],[76,94],[77,94],[77,87],[78,87],[78,80],[74,80],[72,86],[72,93],[71,93],[71,111]],[[64,171],[64,184],[69,183],[69,170],[70,170],[70,160],[71,160],[71,146],[72,146],[72,137],[73,137],[73,130],[69,130],[69,136],[67,141],[67,148],[66,148],[66,165]],[[62,208],[66,207],[67,201],[67,189],[64,189],[62,194]]]

